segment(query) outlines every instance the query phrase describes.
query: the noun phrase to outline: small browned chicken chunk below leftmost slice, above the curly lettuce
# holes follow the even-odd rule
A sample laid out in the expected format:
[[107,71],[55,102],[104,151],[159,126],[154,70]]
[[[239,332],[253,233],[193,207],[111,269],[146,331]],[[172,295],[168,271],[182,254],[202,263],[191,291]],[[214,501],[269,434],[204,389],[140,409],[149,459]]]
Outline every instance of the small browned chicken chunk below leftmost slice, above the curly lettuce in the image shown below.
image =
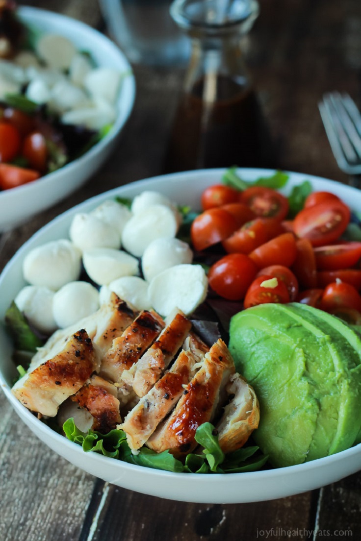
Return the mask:
[[91,414],[93,430],[106,434],[121,423],[116,387],[99,375],[93,375],[70,400]]

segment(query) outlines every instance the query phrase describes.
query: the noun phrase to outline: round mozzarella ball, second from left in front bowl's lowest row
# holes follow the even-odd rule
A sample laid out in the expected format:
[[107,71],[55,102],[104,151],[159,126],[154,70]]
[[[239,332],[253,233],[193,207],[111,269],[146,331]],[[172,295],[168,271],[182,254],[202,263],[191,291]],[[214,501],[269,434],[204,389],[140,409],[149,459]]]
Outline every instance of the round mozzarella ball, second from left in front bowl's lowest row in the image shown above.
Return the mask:
[[54,295],[52,314],[60,328],[74,325],[99,308],[99,292],[89,282],[69,282]]

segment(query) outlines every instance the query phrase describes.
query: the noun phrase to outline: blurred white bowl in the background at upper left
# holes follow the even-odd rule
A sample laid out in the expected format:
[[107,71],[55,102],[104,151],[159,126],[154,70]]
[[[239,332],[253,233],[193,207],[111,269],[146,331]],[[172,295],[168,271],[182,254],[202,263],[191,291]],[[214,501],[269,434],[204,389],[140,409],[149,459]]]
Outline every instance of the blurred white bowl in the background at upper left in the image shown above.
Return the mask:
[[118,136],[132,111],[135,80],[132,68],[120,49],[106,36],[88,25],[36,8],[19,8],[22,21],[41,32],[68,37],[79,50],[89,51],[97,65],[126,72],[113,128],[86,154],[41,179],[0,192],[0,232],[11,229],[80,188],[114,149]]

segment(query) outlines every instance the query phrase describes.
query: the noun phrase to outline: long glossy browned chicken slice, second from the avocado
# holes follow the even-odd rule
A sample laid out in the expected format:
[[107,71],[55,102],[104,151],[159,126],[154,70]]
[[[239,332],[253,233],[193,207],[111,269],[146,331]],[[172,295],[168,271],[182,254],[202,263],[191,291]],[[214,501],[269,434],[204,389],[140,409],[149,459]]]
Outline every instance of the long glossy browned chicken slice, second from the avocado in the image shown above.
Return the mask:
[[148,439],[146,445],[156,452],[167,449],[181,457],[198,445],[197,428],[212,421],[219,404],[226,398],[225,386],[234,373],[234,362],[224,341],[218,340],[205,355],[204,362],[188,384],[175,410]]

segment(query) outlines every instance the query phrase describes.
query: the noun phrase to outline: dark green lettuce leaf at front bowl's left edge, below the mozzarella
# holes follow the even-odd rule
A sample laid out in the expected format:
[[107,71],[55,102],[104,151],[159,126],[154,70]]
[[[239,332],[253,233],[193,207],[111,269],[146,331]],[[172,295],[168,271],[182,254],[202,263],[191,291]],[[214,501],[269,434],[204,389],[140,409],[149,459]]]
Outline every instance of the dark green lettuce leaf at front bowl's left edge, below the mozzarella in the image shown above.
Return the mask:
[[43,340],[31,330],[27,319],[18,309],[14,301],[12,301],[5,313],[5,325],[6,330],[14,341],[15,349],[35,353],[36,349],[41,347],[44,343]]

